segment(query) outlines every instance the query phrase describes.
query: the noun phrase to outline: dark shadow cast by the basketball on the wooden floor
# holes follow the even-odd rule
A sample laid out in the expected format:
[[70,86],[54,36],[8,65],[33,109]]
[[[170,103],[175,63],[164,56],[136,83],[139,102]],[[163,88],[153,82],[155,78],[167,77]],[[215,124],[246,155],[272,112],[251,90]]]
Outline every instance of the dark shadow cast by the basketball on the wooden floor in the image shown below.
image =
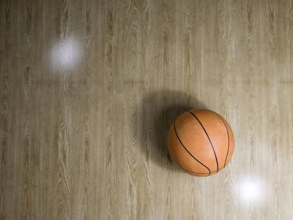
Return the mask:
[[181,91],[155,91],[144,96],[141,146],[152,163],[172,172],[182,172],[168,154],[167,134],[174,120],[191,109],[206,108],[194,96]]

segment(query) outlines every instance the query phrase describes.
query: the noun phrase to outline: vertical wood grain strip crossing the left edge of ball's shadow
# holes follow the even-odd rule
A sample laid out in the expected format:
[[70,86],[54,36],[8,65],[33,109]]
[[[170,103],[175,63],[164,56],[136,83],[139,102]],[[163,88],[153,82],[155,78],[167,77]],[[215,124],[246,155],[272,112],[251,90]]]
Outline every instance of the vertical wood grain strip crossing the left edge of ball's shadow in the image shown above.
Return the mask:
[[142,36],[142,63],[141,63],[141,71],[142,71],[142,79],[144,81],[144,90],[145,95],[143,96],[143,104],[142,104],[142,119],[141,119],[141,128],[142,128],[142,136],[141,136],[141,147],[144,156],[142,156],[142,172],[143,177],[141,180],[141,188],[139,191],[139,198],[141,198],[141,213],[146,219],[153,220],[154,219],[154,188],[153,188],[153,176],[152,174],[152,163],[151,163],[151,146],[149,143],[150,137],[150,128],[149,125],[149,117],[147,116],[150,112],[149,102],[150,102],[150,88],[152,87],[151,82],[148,81],[152,75],[152,59],[149,54],[152,53],[153,46],[151,41],[151,25],[154,22],[151,16],[151,1],[145,0],[142,2],[142,17],[141,17],[141,36]]

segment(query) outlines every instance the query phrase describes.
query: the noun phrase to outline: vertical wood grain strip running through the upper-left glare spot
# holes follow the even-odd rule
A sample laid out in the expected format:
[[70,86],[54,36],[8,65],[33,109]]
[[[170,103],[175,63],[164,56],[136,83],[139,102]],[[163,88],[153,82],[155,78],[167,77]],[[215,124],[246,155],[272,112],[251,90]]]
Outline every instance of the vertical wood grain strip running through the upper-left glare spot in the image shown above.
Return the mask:
[[68,88],[70,69],[70,60],[66,59],[67,54],[70,53],[71,41],[70,39],[70,5],[69,0],[64,0],[60,4],[58,39],[60,42],[58,50],[59,56],[59,76],[60,76],[60,90],[59,90],[59,104],[58,114],[56,115],[56,133],[55,146],[58,149],[58,164],[57,164],[57,185],[56,185],[56,213],[55,218],[58,220],[70,218],[70,149],[72,146],[71,136],[71,117],[70,110],[70,91]]

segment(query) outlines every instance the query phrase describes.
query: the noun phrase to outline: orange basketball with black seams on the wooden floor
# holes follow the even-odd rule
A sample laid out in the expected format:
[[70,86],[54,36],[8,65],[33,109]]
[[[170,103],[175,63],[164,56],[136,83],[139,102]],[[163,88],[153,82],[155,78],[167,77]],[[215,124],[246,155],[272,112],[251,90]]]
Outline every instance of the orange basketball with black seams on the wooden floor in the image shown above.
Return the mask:
[[211,110],[189,110],[172,124],[167,139],[171,159],[193,176],[210,176],[227,166],[234,152],[228,122]]

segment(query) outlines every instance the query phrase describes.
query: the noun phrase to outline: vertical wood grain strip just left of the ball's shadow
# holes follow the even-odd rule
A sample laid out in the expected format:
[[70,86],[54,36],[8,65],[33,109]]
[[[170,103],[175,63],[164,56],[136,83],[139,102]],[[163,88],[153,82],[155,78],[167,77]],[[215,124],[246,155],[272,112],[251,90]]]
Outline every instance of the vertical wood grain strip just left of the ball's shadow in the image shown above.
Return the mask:
[[138,150],[137,143],[140,135],[139,111],[140,111],[140,65],[139,65],[139,4],[137,0],[130,0],[125,9],[125,28],[124,28],[124,75],[125,80],[125,152],[126,163],[126,219],[137,219],[138,212]]

